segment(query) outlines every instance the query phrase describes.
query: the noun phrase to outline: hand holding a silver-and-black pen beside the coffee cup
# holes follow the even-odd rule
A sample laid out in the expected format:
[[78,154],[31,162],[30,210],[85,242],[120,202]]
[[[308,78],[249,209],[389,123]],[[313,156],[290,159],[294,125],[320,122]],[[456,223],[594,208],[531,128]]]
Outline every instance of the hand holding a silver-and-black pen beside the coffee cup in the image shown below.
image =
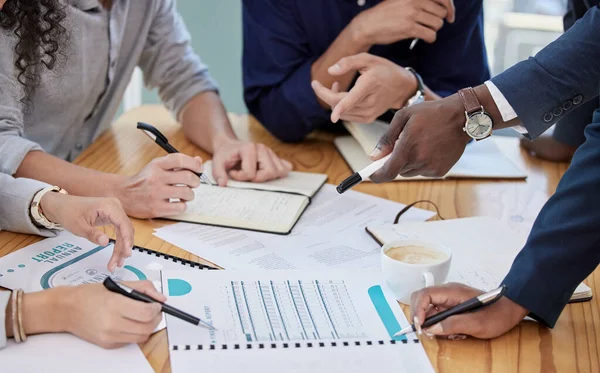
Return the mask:
[[[481,294],[483,294],[481,290],[456,283],[422,289],[413,293],[411,297],[411,320],[416,316],[418,322],[422,324],[427,317]],[[435,336],[469,335],[490,339],[510,331],[528,313],[529,311],[517,303],[502,297],[496,303],[479,311],[451,316],[423,331]]]

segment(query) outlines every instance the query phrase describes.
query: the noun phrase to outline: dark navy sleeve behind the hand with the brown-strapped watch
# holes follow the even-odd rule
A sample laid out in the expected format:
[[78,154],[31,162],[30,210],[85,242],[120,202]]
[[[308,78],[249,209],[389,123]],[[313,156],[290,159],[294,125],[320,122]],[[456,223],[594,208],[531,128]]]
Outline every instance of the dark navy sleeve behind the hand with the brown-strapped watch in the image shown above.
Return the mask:
[[414,67],[425,84],[442,97],[490,78],[483,39],[483,2],[455,0],[456,20],[445,23],[433,44],[419,41]]

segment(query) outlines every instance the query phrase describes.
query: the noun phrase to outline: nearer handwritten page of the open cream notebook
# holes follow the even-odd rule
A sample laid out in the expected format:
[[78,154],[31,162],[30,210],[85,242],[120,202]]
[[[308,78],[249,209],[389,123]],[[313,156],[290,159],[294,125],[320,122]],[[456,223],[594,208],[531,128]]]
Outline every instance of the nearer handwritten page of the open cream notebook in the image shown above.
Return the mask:
[[200,185],[194,200],[172,220],[289,233],[309,204],[308,197],[262,190]]

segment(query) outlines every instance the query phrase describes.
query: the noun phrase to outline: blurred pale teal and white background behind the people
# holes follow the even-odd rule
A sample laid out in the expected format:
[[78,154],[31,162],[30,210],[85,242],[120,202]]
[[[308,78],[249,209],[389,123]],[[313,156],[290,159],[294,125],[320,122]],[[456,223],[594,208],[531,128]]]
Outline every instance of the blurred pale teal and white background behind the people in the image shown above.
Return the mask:
[[[219,82],[227,110],[246,113],[242,96],[241,0],[178,0],[192,34],[194,49]],[[484,0],[485,38],[492,74],[534,55],[563,30],[567,0]],[[132,80],[124,109],[157,103],[158,96],[142,88],[141,75]]]

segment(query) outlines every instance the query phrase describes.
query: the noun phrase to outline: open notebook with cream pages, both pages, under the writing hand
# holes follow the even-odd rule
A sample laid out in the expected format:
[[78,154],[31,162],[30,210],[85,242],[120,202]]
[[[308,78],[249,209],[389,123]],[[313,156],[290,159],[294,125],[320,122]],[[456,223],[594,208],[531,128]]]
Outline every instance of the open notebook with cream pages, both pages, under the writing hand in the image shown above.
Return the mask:
[[[210,162],[204,172],[212,175]],[[229,180],[226,187],[202,184],[194,189],[194,200],[187,203],[187,210],[169,219],[289,234],[326,180],[323,174],[291,172],[264,183]]]

